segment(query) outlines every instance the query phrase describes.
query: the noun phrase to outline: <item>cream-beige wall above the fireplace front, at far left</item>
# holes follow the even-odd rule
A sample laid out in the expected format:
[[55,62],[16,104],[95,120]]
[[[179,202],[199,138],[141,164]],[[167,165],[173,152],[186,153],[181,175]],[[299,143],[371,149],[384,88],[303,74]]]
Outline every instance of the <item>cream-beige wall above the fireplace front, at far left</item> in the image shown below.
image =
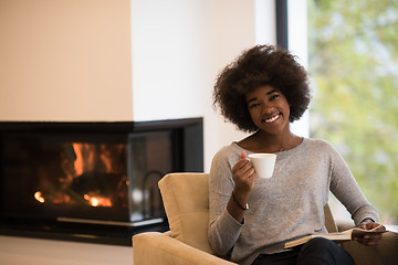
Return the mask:
[[0,40],[0,120],[132,120],[129,0],[2,0]]

